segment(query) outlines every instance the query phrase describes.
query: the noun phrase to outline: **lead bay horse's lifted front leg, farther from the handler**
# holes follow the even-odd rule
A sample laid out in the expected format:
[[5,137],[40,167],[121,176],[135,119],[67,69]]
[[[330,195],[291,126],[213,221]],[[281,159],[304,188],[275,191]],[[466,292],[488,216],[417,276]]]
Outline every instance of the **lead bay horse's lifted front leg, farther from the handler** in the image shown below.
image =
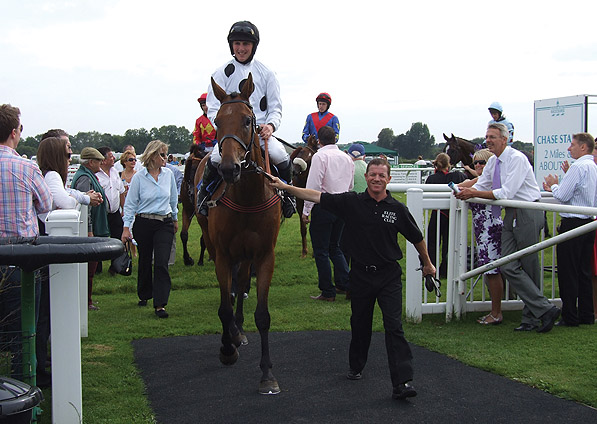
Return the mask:
[[[220,307],[218,316],[222,322],[222,346],[220,347],[220,362],[224,365],[232,365],[238,359],[240,346],[239,331],[234,323],[232,303],[230,301],[231,285],[231,264],[221,253],[216,263],[216,275],[220,283]],[[226,260],[225,260],[226,259]]]

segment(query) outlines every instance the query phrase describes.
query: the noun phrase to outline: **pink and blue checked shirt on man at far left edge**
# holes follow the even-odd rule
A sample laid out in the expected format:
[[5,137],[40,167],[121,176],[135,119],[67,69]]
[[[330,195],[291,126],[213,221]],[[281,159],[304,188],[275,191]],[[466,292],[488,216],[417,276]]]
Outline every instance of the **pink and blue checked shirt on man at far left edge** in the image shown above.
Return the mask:
[[52,194],[37,165],[0,144],[0,237],[35,237],[37,215],[52,208]]

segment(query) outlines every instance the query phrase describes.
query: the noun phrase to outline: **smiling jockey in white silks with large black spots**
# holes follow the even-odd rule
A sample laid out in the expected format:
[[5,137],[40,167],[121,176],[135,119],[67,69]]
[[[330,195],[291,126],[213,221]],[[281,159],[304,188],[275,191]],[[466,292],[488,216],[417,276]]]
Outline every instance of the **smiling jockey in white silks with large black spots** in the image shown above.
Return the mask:
[[[276,75],[264,64],[253,59],[257,46],[259,45],[259,30],[249,21],[236,22],[228,32],[228,45],[233,59],[216,69],[212,78],[226,93],[240,92],[242,84],[249,76],[253,75],[255,90],[251,94],[250,103],[257,125],[260,127],[259,139],[261,146],[265,140],[268,142],[269,156],[278,169],[281,179],[290,182],[292,178],[292,164],[286,149],[272,133],[280,127],[282,120],[282,99],[280,98],[280,85]],[[207,116],[211,122],[220,110],[220,101],[213,93],[211,84],[207,91]],[[207,215],[206,197],[207,187],[215,178],[216,166],[220,163],[219,149],[212,151],[210,160],[207,162],[201,188],[197,196],[199,212]],[[284,192],[282,212],[286,218],[294,213],[294,197]]]

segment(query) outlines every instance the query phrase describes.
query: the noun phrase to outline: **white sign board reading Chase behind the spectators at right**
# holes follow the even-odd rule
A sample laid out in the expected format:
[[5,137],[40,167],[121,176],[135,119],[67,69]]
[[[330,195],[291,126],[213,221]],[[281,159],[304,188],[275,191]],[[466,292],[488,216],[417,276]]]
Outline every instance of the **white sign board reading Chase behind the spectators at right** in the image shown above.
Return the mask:
[[562,162],[571,162],[568,147],[572,135],[586,128],[586,99],[580,95],[535,101],[535,177],[539,187],[549,174],[562,179]]

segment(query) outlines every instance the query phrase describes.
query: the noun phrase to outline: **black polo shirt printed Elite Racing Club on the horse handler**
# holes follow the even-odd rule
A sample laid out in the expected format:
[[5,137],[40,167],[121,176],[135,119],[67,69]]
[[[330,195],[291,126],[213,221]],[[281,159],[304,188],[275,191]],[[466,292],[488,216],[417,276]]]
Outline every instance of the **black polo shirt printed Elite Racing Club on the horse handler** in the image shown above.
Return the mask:
[[383,266],[402,259],[398,233],[413,244],[423,240],[408,208],[389,191],[380,202],[371,198],[366,190],[363,193],[322,193],[321,207],[344,220],[345,253],[365,265]]

